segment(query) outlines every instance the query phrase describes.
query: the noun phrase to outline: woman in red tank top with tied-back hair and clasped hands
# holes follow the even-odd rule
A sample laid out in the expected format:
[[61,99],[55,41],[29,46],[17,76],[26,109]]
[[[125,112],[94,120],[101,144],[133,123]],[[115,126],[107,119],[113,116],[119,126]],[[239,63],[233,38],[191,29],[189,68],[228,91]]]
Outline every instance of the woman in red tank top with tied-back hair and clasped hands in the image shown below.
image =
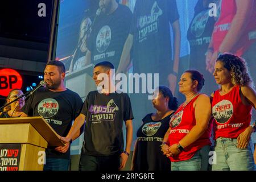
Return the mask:
[[201,166],[208,169],[208,158],[204,160],[206,165],[202,165],[201,149],[207,150],[204,153],[208,156],[212,131],[209,124],[211,107],[209,97],[199,93],[203,85],[203,75],[198,71],[185,71],[180,78],[179,91],[186,100],[171,117],[170,130],[162,144],[164,155],[171,160],[172,171],[196,171]]

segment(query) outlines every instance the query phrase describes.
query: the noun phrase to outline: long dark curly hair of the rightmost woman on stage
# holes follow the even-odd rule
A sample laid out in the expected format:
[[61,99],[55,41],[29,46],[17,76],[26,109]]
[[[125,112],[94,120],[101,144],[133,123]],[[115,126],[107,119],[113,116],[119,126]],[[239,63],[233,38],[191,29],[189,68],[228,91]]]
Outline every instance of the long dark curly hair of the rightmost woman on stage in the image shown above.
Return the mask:
[[230,72],[232,84],[253,86],[253,80],[247,69],[246,61],[242,57],[232,55],[231,53],[224,53],[218,56],[217,61],[221,61],[224,68]]

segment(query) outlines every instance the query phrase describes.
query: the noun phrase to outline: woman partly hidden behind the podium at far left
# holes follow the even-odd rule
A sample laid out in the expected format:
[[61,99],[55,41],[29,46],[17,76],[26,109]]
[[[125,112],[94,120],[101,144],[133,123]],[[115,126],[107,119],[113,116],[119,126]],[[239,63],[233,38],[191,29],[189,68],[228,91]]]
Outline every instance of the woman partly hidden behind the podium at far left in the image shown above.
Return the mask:
[[[6,104],[15,100],[23,94],[22,90],[20,89],[13,89],[10,91],[9,95],[6,99]],[[11,118],[11,117],[20,117],[22,114],[22,107],[24,106],[24,97],[20,98],[19,100],[13,102],[2,113],[0,113],[0,118]]]

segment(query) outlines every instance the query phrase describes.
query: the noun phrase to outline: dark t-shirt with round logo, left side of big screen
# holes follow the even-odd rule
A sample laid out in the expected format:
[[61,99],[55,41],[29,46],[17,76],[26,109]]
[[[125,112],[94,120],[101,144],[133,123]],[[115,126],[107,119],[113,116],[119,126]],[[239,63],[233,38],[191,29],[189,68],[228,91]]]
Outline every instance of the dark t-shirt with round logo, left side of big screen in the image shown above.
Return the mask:
[[129,34],[132,13],[124,5],[109,15],[101,14],[96,17],[89,35],[87,47],[91,52],[91,63],[109,61],[118,68],[123,45]]

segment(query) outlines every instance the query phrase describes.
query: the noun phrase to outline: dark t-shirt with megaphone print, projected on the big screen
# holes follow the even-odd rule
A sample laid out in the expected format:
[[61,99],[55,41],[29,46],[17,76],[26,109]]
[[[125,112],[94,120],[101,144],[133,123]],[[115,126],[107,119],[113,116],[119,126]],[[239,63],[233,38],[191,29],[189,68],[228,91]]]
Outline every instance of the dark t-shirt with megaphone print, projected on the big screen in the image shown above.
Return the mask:
[[130,30],[135,73],[171,72],[170,23],[177,19],[175,0],[136,2]]

